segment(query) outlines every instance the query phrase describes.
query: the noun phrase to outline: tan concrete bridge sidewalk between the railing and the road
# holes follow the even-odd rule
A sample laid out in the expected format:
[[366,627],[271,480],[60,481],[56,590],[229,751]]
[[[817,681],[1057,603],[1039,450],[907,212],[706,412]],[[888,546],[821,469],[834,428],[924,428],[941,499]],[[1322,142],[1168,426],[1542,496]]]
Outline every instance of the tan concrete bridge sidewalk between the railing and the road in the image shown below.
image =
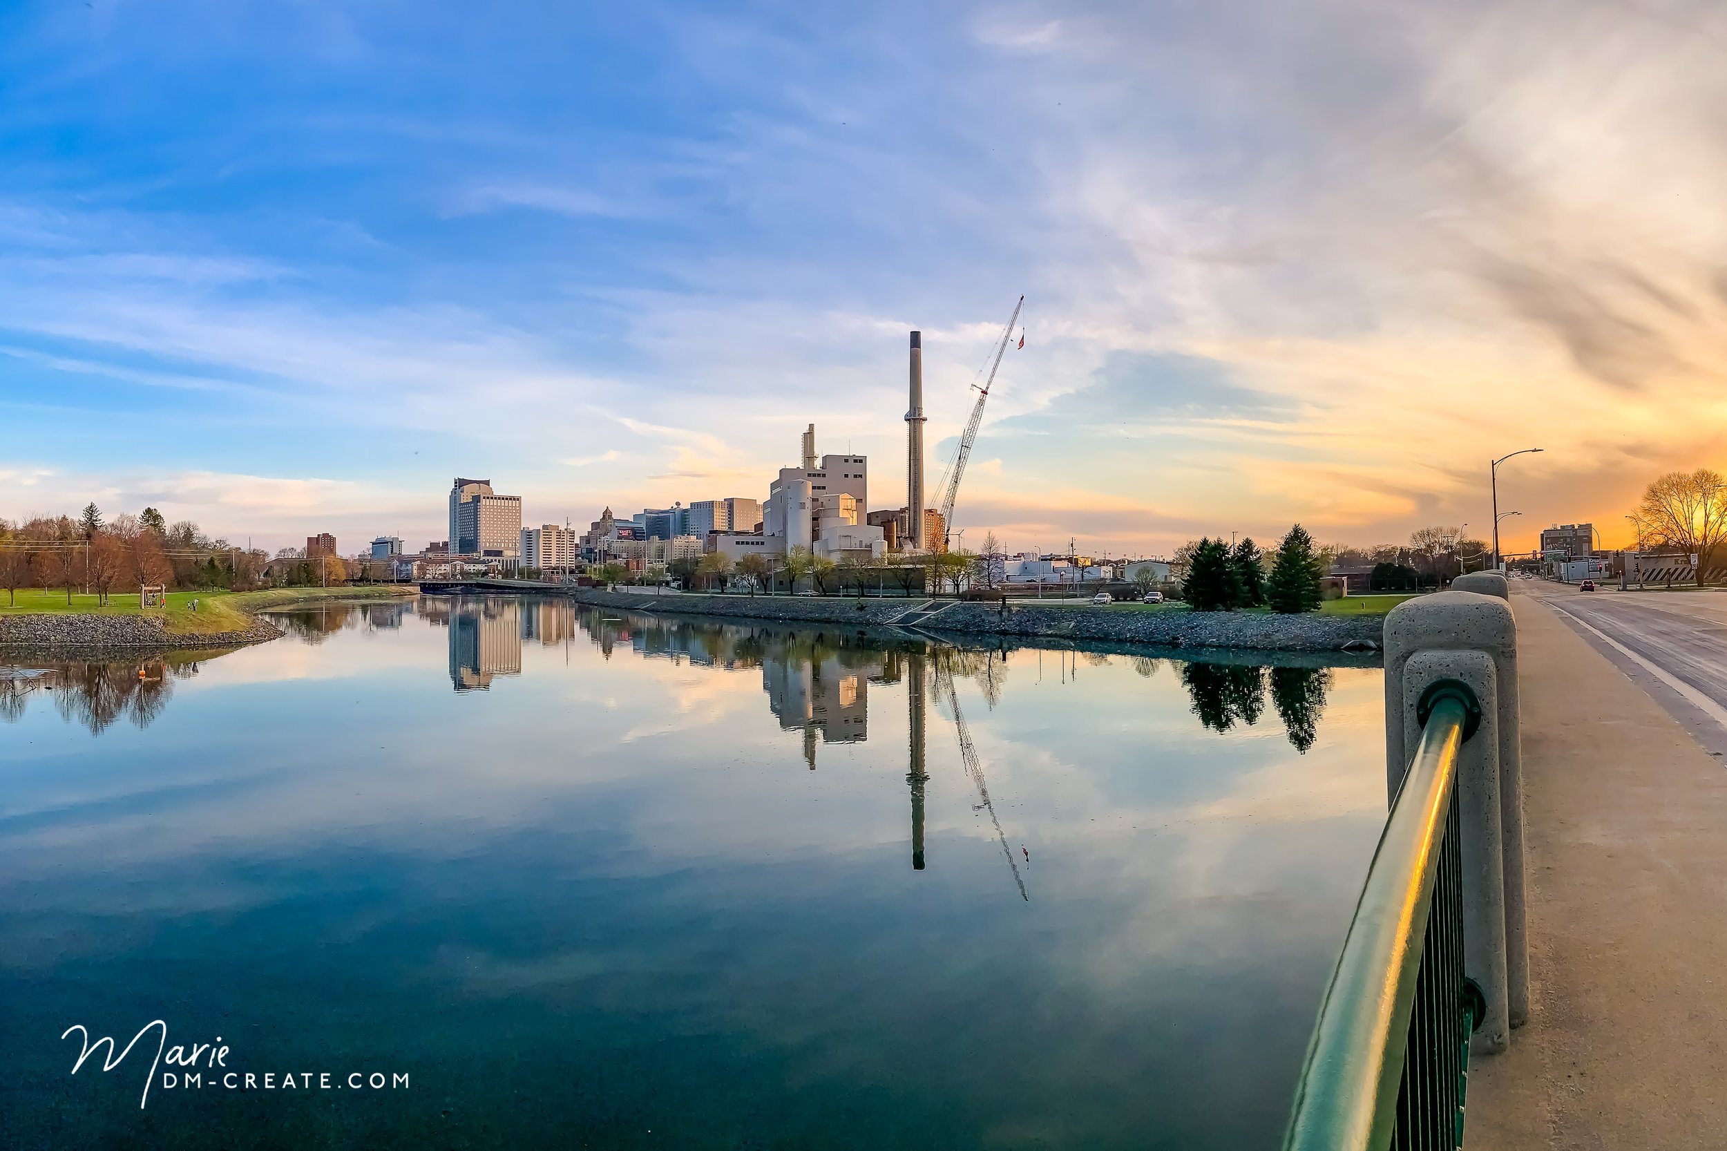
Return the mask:
[[1470,1151],[1727,1148],[1727,767],[1513,596],[1530,1021],[1471,1059]]

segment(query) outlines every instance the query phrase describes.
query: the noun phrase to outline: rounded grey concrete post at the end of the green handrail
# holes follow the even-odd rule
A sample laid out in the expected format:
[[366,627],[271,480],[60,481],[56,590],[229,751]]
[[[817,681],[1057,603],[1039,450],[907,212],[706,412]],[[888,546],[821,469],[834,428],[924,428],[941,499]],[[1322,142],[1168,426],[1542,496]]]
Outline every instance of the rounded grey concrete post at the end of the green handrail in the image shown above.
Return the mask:
[[[1504,577],[1489,576],[1504,586]],[[1466,683],[1483,712],[1482,728],[1463,747],[1458,776],[1464,970],[1489,1001],[1489,1016],[1471,1040],[1480,1052],[1502,1051],[1509,1028],[1528,1014],[1516,620],[1504,593],[1483,591],[1489,593],[1458,589],[1408,600],[1385,620],[1387,797],[1395,797],[1408,771],[1420,740],[1416,703],[1432,683]]]

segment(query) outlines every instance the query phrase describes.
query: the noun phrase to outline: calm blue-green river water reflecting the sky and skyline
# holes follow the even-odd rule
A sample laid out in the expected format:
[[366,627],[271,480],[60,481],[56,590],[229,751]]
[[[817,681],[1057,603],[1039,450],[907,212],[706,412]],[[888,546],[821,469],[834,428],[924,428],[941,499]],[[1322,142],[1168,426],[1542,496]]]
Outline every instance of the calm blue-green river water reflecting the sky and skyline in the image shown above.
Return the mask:
[[0,671],[0,1146],[1276,1146],[1376,669],[283,619]]

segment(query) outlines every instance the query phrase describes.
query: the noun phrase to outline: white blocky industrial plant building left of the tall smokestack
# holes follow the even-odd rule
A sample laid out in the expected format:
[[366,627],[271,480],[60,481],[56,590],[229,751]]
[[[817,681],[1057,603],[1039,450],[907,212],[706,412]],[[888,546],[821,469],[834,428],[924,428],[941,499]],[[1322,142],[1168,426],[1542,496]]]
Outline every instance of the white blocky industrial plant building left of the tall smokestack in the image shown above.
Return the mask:
[[770,553],[805,548],[838,560],[843,555],[881,556],[888,543],[865,522],[869,460],[865,456],[815,458],[815,425],[803,434],[803,467],[781,468],[762,505],[762,534]]

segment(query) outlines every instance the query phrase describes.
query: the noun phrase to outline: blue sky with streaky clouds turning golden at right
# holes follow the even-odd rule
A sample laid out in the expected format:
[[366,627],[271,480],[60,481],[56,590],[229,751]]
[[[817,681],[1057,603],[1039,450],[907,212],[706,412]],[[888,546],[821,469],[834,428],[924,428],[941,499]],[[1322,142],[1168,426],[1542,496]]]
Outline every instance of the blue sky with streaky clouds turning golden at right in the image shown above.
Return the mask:
[[[727,10],[720,10],[720,9]],[[0,5],[0,517],[257,546],[929,486],[955,529],[1506,550],[1727,448],[1727,9]]]

